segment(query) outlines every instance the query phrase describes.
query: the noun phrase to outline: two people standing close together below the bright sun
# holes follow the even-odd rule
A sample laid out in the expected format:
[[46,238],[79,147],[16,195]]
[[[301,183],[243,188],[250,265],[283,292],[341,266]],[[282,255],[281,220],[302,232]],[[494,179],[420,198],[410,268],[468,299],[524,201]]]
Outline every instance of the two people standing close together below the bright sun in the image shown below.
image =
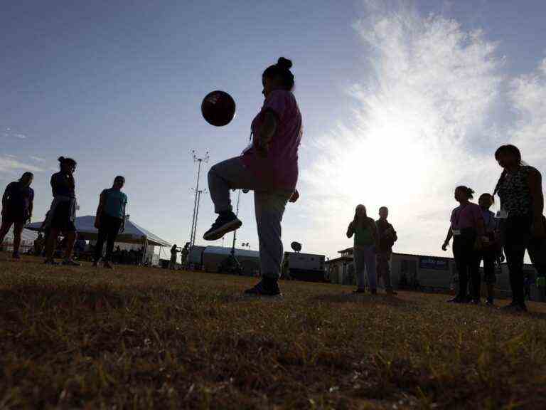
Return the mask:
[[389,209],[379,209],[380,218],[374,221],[368,216],[366,207],[358,205],[353,221],[347,228],[347,237],[354,236],[353,258],[357,278],[355,293],[365,293],[364,271],[368,274],[370,293],[378,293],[378,278],[383,279],[387,295],[395,295],[390,282],[390,259],[392,246],[398,237],[395,228],[387,221]]

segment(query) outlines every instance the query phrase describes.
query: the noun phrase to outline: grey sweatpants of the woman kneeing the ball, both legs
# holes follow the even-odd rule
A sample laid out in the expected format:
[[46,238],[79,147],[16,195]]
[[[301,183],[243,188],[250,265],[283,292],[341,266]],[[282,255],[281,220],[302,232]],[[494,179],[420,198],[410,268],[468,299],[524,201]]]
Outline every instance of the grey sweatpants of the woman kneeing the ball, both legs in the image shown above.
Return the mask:
[[291,192],[266,189],[240,157],[227,159],[210,168],[208,190],[217,214],[232,210],[230,189],[254,191],[254,206],[259,239],[259,265],[262,276],[278,279],[284,256],[281,222]]

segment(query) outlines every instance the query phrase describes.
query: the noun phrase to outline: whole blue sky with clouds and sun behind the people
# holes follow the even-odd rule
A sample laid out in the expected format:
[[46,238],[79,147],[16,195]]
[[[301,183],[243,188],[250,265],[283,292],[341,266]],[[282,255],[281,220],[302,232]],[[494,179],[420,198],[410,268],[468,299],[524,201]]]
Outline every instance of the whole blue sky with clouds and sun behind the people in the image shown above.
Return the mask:
[[[285,246],[334,256],[362,203],[373,216],[389,206],[397,251],[441,255],[454,186],[491,191],[499,144],[546,172],[545,14],[542,0],[11,2],[0,14],[0,184],[35,172],[41,220],[56,158],[74,157],[80,215],[122,174],[131,219],[183,244],[191,150],[210,152],[204,176],[239,154],[262,71],[285,56],[305,127]],[[227,127],[200,115],[215,89],[237,102]],[[214,217],[203,196],[198,243]],[[237,246],[257,249],[252,196],[240,217]]]

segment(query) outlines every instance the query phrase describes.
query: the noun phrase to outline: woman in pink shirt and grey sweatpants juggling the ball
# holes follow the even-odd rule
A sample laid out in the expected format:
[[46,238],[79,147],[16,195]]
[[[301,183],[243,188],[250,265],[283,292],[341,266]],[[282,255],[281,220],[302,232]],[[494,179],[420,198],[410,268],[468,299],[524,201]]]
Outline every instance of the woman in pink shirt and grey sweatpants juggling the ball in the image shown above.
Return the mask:
[[283,248],[281,222],[288,201],[298,194],[298,148],[301,112],[292,93],[292,62],[279,58],[262,74],[264,105],[252,120],[252,144],[241,156],[215,164],[208,172],[208,190],[218,218],[205,232],[205,241],[216,241],[239,228],[232,211],[230,189],[254,191],[262,280],[245,291],[252,295],[280,295]]

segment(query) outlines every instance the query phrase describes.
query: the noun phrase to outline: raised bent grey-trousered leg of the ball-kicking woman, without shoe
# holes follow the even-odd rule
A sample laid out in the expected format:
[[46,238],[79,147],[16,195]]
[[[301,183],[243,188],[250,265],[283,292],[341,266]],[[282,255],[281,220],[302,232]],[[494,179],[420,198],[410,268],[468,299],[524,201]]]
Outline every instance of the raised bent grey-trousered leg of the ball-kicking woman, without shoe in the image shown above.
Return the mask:
[[208,171],[208,191],[216,214],[232,211],[230,189],[258,189],[259,185],[240,157],[218,162]]

